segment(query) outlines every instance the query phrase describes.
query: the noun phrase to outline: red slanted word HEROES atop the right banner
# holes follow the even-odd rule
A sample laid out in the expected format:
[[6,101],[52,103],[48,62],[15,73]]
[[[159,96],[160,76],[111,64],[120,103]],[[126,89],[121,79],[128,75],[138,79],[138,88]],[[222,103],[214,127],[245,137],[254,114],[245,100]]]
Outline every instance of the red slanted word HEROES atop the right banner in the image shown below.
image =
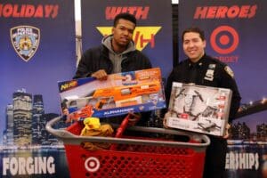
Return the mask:
[[257,5],[198,6],[194,19],[250,19],[255,17]]

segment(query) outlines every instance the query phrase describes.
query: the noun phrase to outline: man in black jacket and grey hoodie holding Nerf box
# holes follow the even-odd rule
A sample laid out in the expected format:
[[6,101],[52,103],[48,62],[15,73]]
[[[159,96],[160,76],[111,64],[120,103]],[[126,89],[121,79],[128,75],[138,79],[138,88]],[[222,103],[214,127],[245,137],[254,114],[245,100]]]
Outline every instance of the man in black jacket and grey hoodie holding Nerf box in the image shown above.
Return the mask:
[[112,34],[104,37],[100,46],[85,51],[74,78],[96,77],[105,80],[112,73],[150,69],[150,60],[135,49],[132,39],[135,27],[134,15],[117,14]]

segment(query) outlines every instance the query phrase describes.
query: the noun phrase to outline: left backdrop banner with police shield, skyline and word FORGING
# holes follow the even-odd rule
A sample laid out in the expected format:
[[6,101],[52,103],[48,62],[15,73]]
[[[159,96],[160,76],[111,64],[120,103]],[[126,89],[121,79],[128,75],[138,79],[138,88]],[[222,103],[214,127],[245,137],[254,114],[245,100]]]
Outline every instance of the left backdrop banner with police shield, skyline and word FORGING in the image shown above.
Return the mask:
[[0,27],[0,177],[68,177],[44,126],[61,113],[57,82],[76,70],[74,1],[2,0]]

